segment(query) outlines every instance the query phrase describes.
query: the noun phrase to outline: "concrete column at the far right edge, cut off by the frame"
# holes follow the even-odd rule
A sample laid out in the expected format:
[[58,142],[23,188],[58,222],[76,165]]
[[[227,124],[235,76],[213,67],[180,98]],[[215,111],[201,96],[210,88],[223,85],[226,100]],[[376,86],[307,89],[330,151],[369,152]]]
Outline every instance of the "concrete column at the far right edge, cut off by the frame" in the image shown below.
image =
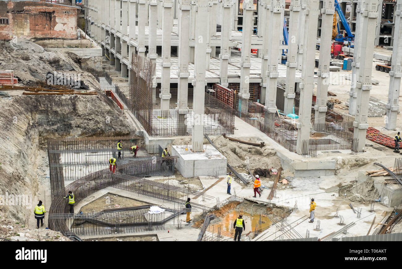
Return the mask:
[[[396,2],[396,6],[401,6],[402,0]],[[390,86],[388,90],[387,117],[385,128],[396,130],[396,120],[399,111],[399,94],[402,76],[402,19],[401,11],[394,13],[394,36],[393,40],[397,47],[392,50]]]

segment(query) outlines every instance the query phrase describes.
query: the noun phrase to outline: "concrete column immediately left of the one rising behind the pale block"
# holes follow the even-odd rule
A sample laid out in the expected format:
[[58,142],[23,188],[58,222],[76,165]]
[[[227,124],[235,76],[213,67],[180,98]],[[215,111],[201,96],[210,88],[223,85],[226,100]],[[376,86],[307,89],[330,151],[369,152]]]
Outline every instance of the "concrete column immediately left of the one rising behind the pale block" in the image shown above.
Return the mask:
[[178,14],[178,89],[177,89],[177,130],[178,136],[187,133],[186,115],[188,113],[188,90],[189,90],[189,40],[190,40],[190,10],[191,0],[181,0]]

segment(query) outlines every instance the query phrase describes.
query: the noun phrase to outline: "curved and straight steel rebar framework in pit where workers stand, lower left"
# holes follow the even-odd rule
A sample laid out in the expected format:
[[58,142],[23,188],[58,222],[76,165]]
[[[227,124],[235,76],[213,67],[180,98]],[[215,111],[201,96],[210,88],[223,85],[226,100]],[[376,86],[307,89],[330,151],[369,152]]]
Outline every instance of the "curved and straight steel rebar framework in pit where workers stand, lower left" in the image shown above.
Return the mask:
[[[140,138],[131,138],[140,139]],[[122,140],[122,144],[130,139]],[[174,211],[174,216],[181,214],[180,208],[184,207],[185,201],[189,196],[201,196],[203,200],[211,200],[213,197],[206,195],[205,193],[199,191],[191,191],[188,188],[176,187],[173,185],[168,185],[164,183],[158,183],[155,181],[146,180],[140,178],[139,176],[149,176],[149,175],[166,175],[166,173],[171,173],[171,168],[173,167],[177,159],[177,156],[160,157],[162,149],[150,148],[155,151],[155,153],[149,153],[150,156],[143,157],[143,159],[129,160],[125,163],[120,162],[117,164],[115,173],[109,171],[109,167],[103,170],[97,170],[84,177],[80,177],[76,181],[73,181],[68,186],[64,187],[64,171],[63,171],[63,154],[64,151],[69,154],[81,154],[82,151],[86,152],[88,150],[110,150],[110,146],[115,144],[116,139],[113,138],[100,138],[100,139],[72,139],[72,140],[49,140],[48,141],[48,155],[49,155],[49,168],[50,168],[50,182],[51,182],[51,195],[52,203],[49,210],[49,228],[52,230],[60,231],[63,233],[74,232],[76,234],[107,234],[113,232],[136,232],[143,230],[152,229],[166,229],[166,228],[181,228],[181,225],[169,225],[166,226],[165,222],[169,220],[169,216],[151,216],[147,217],[148,213],[142,212],[144,220],[148,220],[146,225],[135,224],[132,225],[120,225],[121,218],[117,219],[115,215],[110,214],[104,215],[103,222],[98,223],[94,221],[86,221],[81,223],[79,227],[74,225],[74,219],[82,218],[80,216],[76,217],[73,214],[69,214],[68,203],[63,197],[66,196],[68,191],[73,191],[76,203],[79,203],[86,197],[92,195],[94,192],[104,189],[106,187],[114,187],[116,189],[121,189],[124,191],[129,191],[133,193],[138,193],[141,195],[146,195],[148,197],[154,197],[161,199],[162,201],[170,201],[174,203],[174,207],[178,209],[166,209],[167,211]],[[123,144],[124,147],[124,144]],[[66,167],[71,168],[72,164],[76,165],[80,160],[74,160],[70,163],[65,164]],[[93,162],[100,162],[100,160],[93,160]],[[105,167],[103,165],[103,167]],[[174,170],[173,170],[174,171]],[[202,209],[203,212],[210,210],[211,208],[197,203],[192,203],[193,208]],[[185,210],[185,209],[184,209]],[[104,210],[104,212],[107,210]],[[131,212],[130,216],[134,218],[140,211]],[[99,213],[95,213],[100,214]],[[124,218],[127,217],[127,212]],[[166,214],[166,213],[165,213]],[[152,214],[151,214],[152,215]],[[84,215],[86,216],[86,215]],[[105,218],[105,216],[108,216]],[[123,216],[123,215],[122,215]],[[116,221],[118,220],[118,221]],[[163,220],[163,221],[162,221]],[[69,224],[70,222],[70,224]],[[83,224],[83,225],[82,225]],[[113,225],[112,225],[113,224]],[[123,223],[124,224],[124,223]],[[127,223],[126,223],[127,224]],[[113,227],[111,227],[113,226]]]

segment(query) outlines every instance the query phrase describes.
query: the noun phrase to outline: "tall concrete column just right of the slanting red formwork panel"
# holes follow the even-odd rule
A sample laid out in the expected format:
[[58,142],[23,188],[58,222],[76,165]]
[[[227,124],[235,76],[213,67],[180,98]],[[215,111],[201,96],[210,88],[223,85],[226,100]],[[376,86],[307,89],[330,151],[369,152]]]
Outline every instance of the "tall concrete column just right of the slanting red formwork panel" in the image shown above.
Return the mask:
[[240,62],[240,90],[238,111],[248,112],[248,99],[250,98],[250,57],[251,57],[251,35],[253,30],[253,2],[243,1],[243,32],[242,32],[242,60]]

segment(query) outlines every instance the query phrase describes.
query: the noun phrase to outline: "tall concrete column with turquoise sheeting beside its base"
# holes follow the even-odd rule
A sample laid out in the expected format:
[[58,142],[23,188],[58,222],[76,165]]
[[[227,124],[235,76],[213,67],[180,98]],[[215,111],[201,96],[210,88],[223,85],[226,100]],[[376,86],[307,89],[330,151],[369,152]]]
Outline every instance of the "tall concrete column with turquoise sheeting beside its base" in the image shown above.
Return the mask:
[[286,61],[286,85],[285,85],[285,104],[283,111],[285,114],[293,113],[295,100],[295,76],[297,68],[297,43],[299,42],[299,16],[301,10],[301,0],[291,0],[289,16],[289,40]]

